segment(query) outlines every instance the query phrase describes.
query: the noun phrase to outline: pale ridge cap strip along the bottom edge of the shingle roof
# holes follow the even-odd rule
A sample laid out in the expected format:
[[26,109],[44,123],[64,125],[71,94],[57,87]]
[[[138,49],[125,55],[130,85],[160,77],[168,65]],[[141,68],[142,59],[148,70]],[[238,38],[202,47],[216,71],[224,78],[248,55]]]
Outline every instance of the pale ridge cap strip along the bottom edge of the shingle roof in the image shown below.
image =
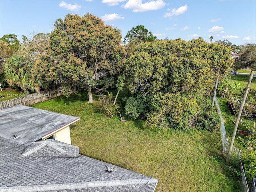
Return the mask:
[[126,179],[126,180],[107,180],[107,181],[90,181],[81,183],[63,183],[63,184],[46,184],[46,185],[32,185],[32,186],[14,186],[14,187],[0,187],[0,192],[6,190],[12,192],[38,192],[49,190],[67,190],[78,188],[91,188],[91,187],[106,187],[106,186],[120,186],[132,184],[148,184],[157,183],[155,178],[142,178],[142,179]]

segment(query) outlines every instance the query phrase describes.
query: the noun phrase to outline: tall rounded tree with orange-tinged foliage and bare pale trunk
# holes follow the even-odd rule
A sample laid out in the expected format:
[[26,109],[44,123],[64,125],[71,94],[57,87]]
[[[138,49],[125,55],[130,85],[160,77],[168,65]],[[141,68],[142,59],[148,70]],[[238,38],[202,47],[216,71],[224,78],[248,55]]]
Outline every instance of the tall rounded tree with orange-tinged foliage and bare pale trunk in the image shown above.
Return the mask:
[[92,103],[92,89],[110,82],[122,62],[120,30],[91,14],[68,14],[54,26],[49,50],[36,63],[33,76],[60,84],[66,96],[85,89]]

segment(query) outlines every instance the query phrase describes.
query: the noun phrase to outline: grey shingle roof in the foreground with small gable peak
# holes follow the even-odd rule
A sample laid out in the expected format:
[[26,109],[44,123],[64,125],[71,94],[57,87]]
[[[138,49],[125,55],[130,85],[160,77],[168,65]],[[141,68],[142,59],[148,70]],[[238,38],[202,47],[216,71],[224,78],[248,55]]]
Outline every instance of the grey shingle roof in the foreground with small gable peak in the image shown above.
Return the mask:
[[[82,156],[70,144],[52,139],[20,142],[2,133],[1,124],[0,192],[153,192],[158,182]],[[108,167],[112,172],[106,172]]]

